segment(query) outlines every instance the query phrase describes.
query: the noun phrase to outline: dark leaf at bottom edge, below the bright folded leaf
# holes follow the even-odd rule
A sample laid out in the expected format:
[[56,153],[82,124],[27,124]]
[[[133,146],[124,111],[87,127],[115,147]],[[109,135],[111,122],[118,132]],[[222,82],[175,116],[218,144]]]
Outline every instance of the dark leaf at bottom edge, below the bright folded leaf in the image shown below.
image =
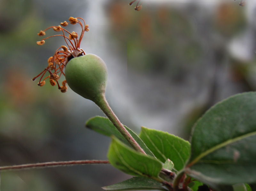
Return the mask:
[[113,184],[110,186],[102,187],[104,190],[164,190],[162,184],[156,180],[144,178],[144,177],[133,177],[131,179]]

